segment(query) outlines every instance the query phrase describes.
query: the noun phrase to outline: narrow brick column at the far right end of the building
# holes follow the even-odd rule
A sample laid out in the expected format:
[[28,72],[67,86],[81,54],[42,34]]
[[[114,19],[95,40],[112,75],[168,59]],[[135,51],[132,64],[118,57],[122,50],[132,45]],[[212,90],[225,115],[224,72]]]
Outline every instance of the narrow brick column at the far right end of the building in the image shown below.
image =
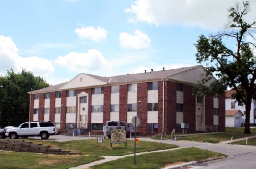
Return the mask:
[[225,132],[225,96],[219,96],[219,131]]

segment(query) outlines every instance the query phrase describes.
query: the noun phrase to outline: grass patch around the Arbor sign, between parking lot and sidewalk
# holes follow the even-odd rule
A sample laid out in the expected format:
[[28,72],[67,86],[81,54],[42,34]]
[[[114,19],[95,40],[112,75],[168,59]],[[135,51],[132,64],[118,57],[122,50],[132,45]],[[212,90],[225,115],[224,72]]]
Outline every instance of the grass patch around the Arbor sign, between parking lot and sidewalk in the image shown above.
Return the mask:
[[[103,144],[97,143],[97,139],[63,142],[40,140],[26,141],[50,145],[51,147],[57,147],[71,152],[82,152],[85,155],[120,156],[134,153],[134,141],[130,140],[127,140],[127,147],[125,147],[125,143],[116,143],[112,144],[112,148],[110,145],[110,139],[104,139]],[[136,144],[136,152],[148,152],[176,147],[178,146],[172,144],[139,141],[139,143]]]

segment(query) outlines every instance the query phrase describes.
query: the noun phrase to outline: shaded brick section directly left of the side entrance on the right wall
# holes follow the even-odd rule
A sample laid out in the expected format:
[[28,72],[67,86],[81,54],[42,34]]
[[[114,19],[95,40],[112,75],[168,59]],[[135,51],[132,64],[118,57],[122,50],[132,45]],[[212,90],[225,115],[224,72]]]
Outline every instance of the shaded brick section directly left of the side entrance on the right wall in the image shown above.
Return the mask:
[[183,84],[184,91],[184,113],[183,119],[184,123],[189,124],[189,128],[187,131],[195,131],[196,130],[196,98],[192,95],[193,88],[191,85]]

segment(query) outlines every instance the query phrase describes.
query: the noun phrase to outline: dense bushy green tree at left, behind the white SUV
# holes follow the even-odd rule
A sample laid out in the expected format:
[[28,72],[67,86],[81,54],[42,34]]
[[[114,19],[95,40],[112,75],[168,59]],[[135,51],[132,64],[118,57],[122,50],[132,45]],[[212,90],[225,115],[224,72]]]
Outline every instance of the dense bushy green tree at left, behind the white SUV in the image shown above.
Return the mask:
[[18,126],[28,121],[28,92],[48,86],[43,78],[26,69],[19,73],[12,68],[7,70],[7,75],[0,77],[0,126]]

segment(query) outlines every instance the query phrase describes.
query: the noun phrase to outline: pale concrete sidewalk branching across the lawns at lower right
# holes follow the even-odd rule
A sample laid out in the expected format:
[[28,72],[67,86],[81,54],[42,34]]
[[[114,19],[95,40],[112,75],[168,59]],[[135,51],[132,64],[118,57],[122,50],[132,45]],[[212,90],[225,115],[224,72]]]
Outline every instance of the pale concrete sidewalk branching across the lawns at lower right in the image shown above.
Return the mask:
[[[252,136],[252,137],[248,137],[249,138],[254,138],[256,136]],[[233,141],[241,141],[241,140],[246,140],[246,138],[240,138],[240,139],[236,139]],[[160,140],[153,140],[151,138],[140,138],[140,141],[153,141],[153,142],[160,142]],[[167,144],[174,144],[173,140],[162,140],[162,143],[167,143]],[[230,141],[222,141],[220,143],[207,143],[207,150],[209,151],[213,151],[213,152],[218,152],[218,153],[223,153],[226,154],[228,156],[236,156],[239,154],[244,154],[244,153],[250,153],[250,152],[256,152],[256,146],[250,146],[250,145],[236,145],[236,144],[228,144],[230,143]],[[194,141],[194,144],[192,143],[192,141],[175,141],[175,145],[180,146],[179,148],[173,148],[173,149],[168,149],[168,150],[158,150],[158,151],[151,151],[151,152],[142,152],[142,153],[136,153],[136,155],[140,155],[140,154],[145,154],[145,153],[154,153],[154,152],[163,152],[163,151],[171,151],[171,150],[175,150],[175,149],[180,149],[180,148],[187,148],[187,147],[198,147],[201,149],[206,149],[206,142],[196,142]],[[109,161],[113,161],[113,160],[117,160],[119,158],[124,158],[124,157],[128,157],[128,156],[134,156],[134,154],[129,154],[129,155],[125,155],[125,156],[101,156],[104,157],[105,159],[103,160],[99,160],[99,161],[95,161],[89,164],[85,164],[85,165],[81,165],[81,166],[77,166],[77,167],[73,167],[70,169],[87,169],[91,166],[94,165],[98,165],[98,164],[102,164],[102,163],[106,163]],[[192,162],[192,163],[196,163],[196,162]],[[188,166],[191,165],[191,163],[186,163],[186,164],[182,164],[182,165],[178,165],[178,166],[171,166],[165,169],[177,169],[180,168],[182,166]]]

